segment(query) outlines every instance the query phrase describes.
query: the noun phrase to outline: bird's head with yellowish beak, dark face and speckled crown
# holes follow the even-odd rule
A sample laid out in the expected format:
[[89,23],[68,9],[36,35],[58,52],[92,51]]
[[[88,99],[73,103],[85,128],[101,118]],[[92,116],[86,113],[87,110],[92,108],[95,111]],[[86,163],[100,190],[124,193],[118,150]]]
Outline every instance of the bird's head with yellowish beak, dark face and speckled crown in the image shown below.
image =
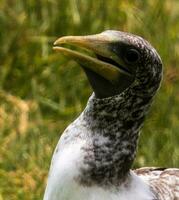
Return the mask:
[[[62,44],[85,48],[94,56],[61,47]],[[54,50],[82,66],[99,99],[121,94],[129,87],[143,88],[151,93],[159,87],[160,56],[139,36],[109,30],[96,35],[61,37],[54,45]]]

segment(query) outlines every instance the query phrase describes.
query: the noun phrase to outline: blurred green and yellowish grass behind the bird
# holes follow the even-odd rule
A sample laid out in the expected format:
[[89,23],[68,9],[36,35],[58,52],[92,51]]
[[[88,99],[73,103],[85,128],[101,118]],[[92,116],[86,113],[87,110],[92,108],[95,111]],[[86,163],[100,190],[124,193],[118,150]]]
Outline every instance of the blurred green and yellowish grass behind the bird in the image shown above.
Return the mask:
[[0,0],[0,200],[42,199],[59,136],[91,93],[53,42],[107,29],[143,36],[165,66],[134,167],[179,167],[178,0]]

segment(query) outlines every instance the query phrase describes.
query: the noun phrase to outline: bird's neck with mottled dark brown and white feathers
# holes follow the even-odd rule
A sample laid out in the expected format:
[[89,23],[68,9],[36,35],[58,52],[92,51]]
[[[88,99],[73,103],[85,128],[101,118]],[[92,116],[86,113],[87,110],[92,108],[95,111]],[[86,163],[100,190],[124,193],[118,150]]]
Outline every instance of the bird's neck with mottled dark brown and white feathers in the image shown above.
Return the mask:
[[85,185],[116,185],[126,180],[135,158],[139,130],[151,95],[136,95],[135,87],[120,95],[97,99],[93,94],[83,112],[88,145],[80,180]]

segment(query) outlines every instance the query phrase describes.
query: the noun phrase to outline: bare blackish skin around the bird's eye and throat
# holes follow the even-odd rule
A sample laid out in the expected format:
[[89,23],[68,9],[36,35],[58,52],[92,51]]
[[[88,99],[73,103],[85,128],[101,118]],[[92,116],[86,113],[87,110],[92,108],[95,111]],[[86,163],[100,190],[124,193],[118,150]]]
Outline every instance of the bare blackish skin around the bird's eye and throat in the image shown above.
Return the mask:
[[81,65],[88,77],[90,85],[93,88],[93,91],[97,98],[107,98],[107,97],[120,94],[126,88],[128,88],[135,79],[135,69],[137,67],[136,63],[140,58],[139,51],[135,49],[134,47],[132,47],[131,45],[126,45],[123,43],[109,44],[109,49],[111,51],[114,51],[117,56],[121,57],[124,60],[124,63],[126,64],[127,67],[119,66],[114,61],[107,59],[105,57],[99,56],[99,55],[96,55],[97,58],[99,60],[114,64],[119,68],[122,68],[125,70],[129,69],[128,71],[130,72],[131,76],[128,76],[126,74],[121,74],[115,83],[111,83],[110,81],[104,79],[103,77],[96,74],[92,70],[86,67],[83,67],[83,65]]

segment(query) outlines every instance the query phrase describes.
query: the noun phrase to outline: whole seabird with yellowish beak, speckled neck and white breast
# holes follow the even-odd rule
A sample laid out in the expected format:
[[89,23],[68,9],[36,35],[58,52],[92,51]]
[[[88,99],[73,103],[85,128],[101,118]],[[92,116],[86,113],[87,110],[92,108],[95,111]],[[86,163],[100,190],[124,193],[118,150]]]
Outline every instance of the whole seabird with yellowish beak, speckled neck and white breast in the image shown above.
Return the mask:
[[56,146],[44,200],[179,200],[179,169],[132,169],[163,77],[155,48],[141,36],[107,30],[60,37],[53,49],[79,64],[93,92]]

